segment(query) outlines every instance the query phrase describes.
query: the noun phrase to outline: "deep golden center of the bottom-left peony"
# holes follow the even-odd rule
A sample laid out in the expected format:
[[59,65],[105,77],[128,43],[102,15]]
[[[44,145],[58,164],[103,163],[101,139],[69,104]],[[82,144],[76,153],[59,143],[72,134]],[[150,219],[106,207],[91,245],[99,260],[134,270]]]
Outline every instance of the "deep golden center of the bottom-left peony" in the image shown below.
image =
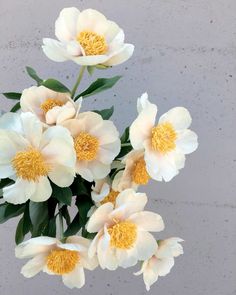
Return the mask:
[[72,272],[80,257],[77,251],[52,250],[47,257],[47,268],[57,275],[64,275]]

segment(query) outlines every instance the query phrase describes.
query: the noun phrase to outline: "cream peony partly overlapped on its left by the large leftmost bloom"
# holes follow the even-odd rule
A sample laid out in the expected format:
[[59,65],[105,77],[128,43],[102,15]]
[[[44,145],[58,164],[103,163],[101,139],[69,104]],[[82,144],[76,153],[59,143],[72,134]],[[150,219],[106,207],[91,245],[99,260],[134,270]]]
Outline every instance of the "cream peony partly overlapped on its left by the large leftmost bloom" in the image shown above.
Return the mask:
[[102,179],[120,151],[119,132],[109,120],[94,112],[84,112],[77,119],[63,123],[74,138],[77,155],[76,173],[87,181]]

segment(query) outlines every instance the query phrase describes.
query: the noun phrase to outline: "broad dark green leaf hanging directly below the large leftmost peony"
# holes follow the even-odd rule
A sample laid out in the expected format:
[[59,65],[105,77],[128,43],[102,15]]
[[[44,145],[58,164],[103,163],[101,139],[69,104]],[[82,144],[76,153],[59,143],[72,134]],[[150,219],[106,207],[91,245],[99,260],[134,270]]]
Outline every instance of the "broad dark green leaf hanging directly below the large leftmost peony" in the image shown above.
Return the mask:
[[40,236],[48,223],[47,202],[36,203],[30,201],[29,214],[32,222],[32,237]]

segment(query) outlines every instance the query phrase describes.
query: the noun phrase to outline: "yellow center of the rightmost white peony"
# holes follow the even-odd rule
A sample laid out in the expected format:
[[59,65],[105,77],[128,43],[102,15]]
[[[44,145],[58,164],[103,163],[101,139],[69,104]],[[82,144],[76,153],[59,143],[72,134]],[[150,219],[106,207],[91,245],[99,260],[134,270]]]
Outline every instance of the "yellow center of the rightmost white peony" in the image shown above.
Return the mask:
[[152,128],[152,148],[162,154],[175,148],[177,134],[171,123],[165,122]]

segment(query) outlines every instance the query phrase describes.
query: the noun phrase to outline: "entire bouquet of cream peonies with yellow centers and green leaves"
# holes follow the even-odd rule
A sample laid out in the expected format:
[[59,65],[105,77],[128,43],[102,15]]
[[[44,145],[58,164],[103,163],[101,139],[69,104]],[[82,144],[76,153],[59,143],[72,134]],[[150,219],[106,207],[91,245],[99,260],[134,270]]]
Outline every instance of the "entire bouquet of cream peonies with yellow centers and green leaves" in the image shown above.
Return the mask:
[[[147,290],[169,273],[183,253],[180,238],[156,239],[162,217],[145,211],[147,196],[138,188],[150,179],[170,181],[196,150],[191,116],[175,107],[156,121],[157,106],[147,93],[137,100],[138,115],[120,137],[110,120],[113,107],[81,111],[86,97],[113,87],[120,76],[99,78],[79,90],[85,71],[109,69],[134,50],[123,30],[96,10],[65,8],[55,24],[58,40],[43,40],[43,51],[56,62],[81,66],[72,90],[55,79],[42,79],[22,93],[0,117],[0,222],[21,216],[16,257],[30,258],[21,273],[62,276],[69,287],[85,283],[84,269],[115,270],[141,263]],[[71,211],[76,210],[71,220]],[[31,239],[24,241],[25,236]]]

